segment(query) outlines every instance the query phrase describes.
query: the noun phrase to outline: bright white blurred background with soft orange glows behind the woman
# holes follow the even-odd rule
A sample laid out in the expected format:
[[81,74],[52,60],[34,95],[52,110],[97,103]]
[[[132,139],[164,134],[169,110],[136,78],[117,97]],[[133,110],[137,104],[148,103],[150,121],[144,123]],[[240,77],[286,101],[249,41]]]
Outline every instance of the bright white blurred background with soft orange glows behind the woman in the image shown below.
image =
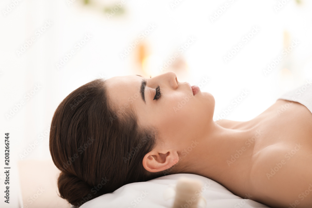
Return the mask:
[[[0,10],[0,126],[12,163],[12,203],[1,207],[68,207],[56,193],[51,119],[91,80],[173,71],[214,96],[214,120],[247,121],[312,77],[307,0],[2,0]],[[4,181],[1,171],[1,191]]]

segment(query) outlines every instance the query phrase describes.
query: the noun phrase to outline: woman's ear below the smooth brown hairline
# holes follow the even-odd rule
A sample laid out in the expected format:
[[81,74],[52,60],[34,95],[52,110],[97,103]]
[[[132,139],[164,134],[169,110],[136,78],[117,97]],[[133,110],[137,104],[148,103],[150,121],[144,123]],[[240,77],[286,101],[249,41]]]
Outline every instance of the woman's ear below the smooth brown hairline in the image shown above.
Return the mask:
[[144,156],[143,167],[149,172],[159,172],[172,167],[178,161],[176,150],[154,150]]

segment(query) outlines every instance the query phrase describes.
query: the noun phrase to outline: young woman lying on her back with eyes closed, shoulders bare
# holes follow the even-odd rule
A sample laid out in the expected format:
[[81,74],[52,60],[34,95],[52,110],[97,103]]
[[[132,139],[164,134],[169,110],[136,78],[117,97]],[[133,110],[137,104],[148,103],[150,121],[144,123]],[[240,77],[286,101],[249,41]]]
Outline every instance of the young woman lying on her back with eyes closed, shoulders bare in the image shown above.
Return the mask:
[[52,119],[61,197],[80,206],[128,183],[193,173],[270,207],[311,207],[312,87],[305,89],[250,121],[215,122],[212,94],[173,72],[91,81]]

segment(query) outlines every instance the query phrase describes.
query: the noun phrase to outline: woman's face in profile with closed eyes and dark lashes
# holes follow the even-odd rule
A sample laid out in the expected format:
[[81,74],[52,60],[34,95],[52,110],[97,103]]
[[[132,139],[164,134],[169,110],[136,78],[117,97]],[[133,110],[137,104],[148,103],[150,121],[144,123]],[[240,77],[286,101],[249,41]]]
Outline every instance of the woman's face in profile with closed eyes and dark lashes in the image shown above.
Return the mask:
[[[146,80],[143,97],[142,80]],[[106,80],[106,84],[113,105],[120,111],[129,110],[131,106],[139,126],[153,126],[158,130],[158,138],[164,141],[162,148],[183,151],[193,141],[200,142],[212,125],[215,107],[212,94],[199,91],[193,95],[191,86],[178,82],[173,72],[150,79],[139,75],[116,76]],[[158,85],[159,99],[155,98]]]

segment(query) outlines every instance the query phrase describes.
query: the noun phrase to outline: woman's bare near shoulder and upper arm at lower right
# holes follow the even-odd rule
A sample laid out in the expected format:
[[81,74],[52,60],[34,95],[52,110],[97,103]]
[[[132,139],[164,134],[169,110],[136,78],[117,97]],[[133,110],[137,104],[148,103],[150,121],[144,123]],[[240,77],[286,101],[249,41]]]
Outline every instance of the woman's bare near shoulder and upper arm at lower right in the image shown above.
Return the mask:
[[300,143],[270,145],[254,157],[250,184],[256,201],[271,207],[311,207],[312,152]]

